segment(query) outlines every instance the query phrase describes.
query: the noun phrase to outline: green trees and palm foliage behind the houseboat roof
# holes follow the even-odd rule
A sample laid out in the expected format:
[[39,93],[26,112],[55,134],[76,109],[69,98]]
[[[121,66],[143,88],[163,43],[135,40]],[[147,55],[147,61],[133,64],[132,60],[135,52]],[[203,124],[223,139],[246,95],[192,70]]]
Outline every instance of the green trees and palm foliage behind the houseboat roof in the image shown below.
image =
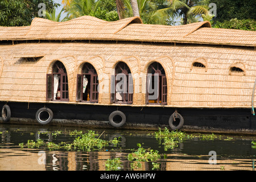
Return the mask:
[[[94,0],[69,1],[71,2],[70,5],[64,9],[68,16],[63,20],[58,19],[58,21],[69,20],[83,15],[95,16],[107,21],[119,19],[117,1],[115,0],[98,0],[98,3],[94,2]],[[77,5],[72,6],[74,2]],[[122,0],[122,2],[125,18],[133,16],[130,0]],[[32,19],[38,17],[39,3],[46,4],[46,11],[48,13],[53,12],[54,9],[60,6],[54,0],[1,0],[0,26],[30,26]],[[217,16],[214,16],[210,21],[213,28],[256,30],[255,0],[138,0],[139,13],[143,23],[166,25],[174,25],[175,19],[180,19],[180,24],[186,23],[187,18],[187,23],[197,22],[203,15],[192,14],[191,16],[189,11],[195,6],[205,8],[209,3],[215,3],[217,6]],[[54,12],[52,16],[57,15]],[[208,17],[211,16],[208,15]]]

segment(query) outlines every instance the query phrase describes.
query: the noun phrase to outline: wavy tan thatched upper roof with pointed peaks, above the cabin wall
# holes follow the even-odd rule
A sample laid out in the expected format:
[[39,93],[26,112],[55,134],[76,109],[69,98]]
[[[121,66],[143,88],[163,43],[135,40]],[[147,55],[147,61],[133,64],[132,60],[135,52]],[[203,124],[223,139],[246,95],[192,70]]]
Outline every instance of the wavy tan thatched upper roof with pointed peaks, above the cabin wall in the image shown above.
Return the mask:
[[0,40],[127,40],[256,46],[256,32],[211,28],[208,21],[164,26],[143,24],[137,16],[115,22],[81,16],[67,22],[34,18],[31,26],[0,27]]

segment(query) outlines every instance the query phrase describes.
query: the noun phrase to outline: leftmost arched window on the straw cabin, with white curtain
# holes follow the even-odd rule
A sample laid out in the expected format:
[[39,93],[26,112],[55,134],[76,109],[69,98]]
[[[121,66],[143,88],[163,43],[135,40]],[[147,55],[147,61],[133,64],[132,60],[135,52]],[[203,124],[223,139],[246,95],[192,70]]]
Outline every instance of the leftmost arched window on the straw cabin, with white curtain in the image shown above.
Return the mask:
[[69,101],[67,71],[60,61],[53,64],[52,74],[47,74],[47,100]]

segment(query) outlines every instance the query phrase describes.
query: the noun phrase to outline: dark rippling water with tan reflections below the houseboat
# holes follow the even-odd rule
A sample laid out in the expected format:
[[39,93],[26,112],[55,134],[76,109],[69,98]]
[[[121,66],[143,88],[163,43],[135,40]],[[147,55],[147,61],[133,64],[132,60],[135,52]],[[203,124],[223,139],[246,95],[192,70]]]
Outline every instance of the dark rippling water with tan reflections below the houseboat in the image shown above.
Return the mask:
[[[101,138],[110,140],[121,137],[118,146],[110,144],[100,151],[50,151],[44,148],[23,148],[19,143],[27,143],[27,140],[43,139],[45,142],[67,142],[75,137],[69,135],[57,135],[51,132],[56,130],[94,130],[77,129],[75,127],[57,128],[49,126],[18,126],[0,125],[0,170],[6,171],[105,171],[108,159],[119,158],[122,162],[122,171],[151,171],[151,162],[140,162],[140,168],[131,168],[131,162],[127,155],[131,149],[137,150],[137,143],[143,148],[158,150],[161,158],[158,171],[238,171],[254,170],[256,149],[252,148],[251,141],[256,137],[225,136],[227,139],[200,140],[186,139],[177,147],[165,150],[152,133],[154,131],[134,130],[105,130]],[[94,130],[102,133],[104,130]],[[216,152],[216,164],[210,164],[212,155]],[[209,163],[210,162],[210,163]]]

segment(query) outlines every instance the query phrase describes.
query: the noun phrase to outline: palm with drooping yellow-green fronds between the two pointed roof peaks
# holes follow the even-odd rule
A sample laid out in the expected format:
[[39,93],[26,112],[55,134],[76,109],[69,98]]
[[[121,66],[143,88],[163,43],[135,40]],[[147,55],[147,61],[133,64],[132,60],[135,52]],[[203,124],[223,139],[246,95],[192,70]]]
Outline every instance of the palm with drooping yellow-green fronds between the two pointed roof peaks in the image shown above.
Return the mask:
[[177,16],[183,18],[183,24],[193,22],[195,16],[208,14],[208,0],[169,0]]

